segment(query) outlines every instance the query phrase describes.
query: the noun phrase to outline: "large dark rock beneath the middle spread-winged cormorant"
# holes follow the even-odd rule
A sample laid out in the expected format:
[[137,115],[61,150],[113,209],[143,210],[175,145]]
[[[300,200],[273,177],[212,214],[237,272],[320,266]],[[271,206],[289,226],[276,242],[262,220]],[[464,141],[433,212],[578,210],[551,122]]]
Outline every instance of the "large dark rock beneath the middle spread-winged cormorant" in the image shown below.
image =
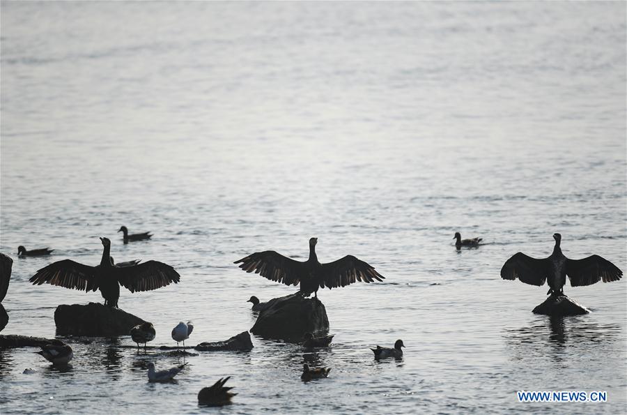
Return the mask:
[[266,303],[250,332],[264,338],[300,342],[304,333],[329,330],[325,305],[318,299],[291,294]]

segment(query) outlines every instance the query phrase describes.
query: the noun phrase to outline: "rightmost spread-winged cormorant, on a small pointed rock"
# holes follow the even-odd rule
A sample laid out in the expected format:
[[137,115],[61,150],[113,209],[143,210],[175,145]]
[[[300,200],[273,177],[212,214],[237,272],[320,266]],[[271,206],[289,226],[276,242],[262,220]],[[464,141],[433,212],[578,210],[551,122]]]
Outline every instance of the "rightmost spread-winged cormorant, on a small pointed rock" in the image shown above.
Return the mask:
[[592,285],[600,280],[603,282],[617,281],[623,276],[612,262],[598,255],[583,259],[568,259],[559,247],[562,235],[554,234],[555,247],[548,258],[536,259],[518,252],[508,259],[501,269],[501,278],[516,280],[525,284],[541,286],[548,282],[550,289],[546,294],[564,295],[566,276],[573,287]]

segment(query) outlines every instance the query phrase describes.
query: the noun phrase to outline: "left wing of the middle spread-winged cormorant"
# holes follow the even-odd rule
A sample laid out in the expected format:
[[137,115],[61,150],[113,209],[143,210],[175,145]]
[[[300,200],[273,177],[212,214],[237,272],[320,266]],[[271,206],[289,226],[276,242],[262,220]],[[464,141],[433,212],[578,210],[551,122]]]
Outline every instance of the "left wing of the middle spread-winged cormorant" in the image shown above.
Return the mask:
[[268,280],[282,282],[285,285],[297,285],[303,276],[307,275],[307,266],[304,262],[284,257],[273,250],[255,252],[233,264],[239,264],[246,272],[255,271]]

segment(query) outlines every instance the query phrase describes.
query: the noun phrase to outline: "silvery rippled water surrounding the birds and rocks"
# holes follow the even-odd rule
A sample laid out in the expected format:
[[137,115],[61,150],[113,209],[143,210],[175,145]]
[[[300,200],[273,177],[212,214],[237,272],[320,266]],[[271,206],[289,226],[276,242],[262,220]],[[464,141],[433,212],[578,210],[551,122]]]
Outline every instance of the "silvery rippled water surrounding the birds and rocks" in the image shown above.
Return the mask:
[[[0,351],[0,412],[624,413],[625,280],[566,293],[590,315],[531,310],[548,287],[504,261],[548,256],[627,269],[626,3],[1,3],[1,239],[14,258],[3,334],[52,338],[59,304],[33,287],[65,258],[157,259],[178,285],[119,305],[153,345],[250,329],[246,300],[295,292],[232,262],[258,250],[352,254],[384,282],[320,291],[330,349],[253,337],[148,384],[128,336]],[[123,245],[116,230],[152,231]],[[485,246],[456,252],[454,232]],[[54,248],[17,259],[17,246]],[[369,347],[405,342],[403,361]],[[332,368],[304,384],[302,363]],[[23,375],[26,368],[36,369]],[[219,377],[235,405],[198,407]],[[607,391],[605,403],[518,402],[516,391]]]

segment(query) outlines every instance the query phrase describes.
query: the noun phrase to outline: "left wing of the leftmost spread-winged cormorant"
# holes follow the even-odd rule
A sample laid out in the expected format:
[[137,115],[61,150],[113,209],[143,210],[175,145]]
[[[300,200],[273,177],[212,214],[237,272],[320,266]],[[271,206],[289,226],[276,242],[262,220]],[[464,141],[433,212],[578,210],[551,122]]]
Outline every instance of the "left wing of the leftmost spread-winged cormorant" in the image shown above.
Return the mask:
[[96,272],[98,266],[79,264],[72,259],[53,262],[43,267],[29,279],[33,285],[44,283],[59,285],[59,287],[84,289],[85,291],[98,289]]

